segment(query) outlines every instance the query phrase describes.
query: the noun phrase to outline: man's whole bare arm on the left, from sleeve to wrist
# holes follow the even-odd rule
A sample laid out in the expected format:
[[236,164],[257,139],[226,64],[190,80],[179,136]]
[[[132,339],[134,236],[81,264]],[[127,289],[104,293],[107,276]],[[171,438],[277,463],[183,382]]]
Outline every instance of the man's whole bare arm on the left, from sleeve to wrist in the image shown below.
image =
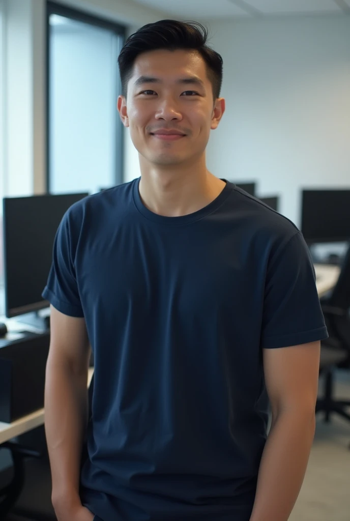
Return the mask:
[[[45,432],[55,510],[81,509],[79,479],[88,412],[90,345],[83,318],[51,306],[51,342],[46,365]],[[65,519],[65,516],[58,518]]]

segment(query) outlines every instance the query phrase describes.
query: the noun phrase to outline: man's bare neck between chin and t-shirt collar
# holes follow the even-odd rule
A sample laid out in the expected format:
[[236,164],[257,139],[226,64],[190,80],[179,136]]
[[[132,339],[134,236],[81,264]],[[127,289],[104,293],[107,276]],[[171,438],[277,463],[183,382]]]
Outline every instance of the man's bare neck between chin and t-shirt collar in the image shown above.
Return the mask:
[[192,214],[210,204],[224,188],[221,181],[201,162],[187,166],[159,166],[140,157],[140,197],[158,215],[179,217]]

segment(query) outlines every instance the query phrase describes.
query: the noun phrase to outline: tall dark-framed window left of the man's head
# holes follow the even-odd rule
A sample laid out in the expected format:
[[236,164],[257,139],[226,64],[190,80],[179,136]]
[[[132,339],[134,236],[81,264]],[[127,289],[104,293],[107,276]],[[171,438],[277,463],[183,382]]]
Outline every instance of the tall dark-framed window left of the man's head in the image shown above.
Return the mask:
[[97,192],[122,182],[117,111],[124,29],[48,3],[49,193]]

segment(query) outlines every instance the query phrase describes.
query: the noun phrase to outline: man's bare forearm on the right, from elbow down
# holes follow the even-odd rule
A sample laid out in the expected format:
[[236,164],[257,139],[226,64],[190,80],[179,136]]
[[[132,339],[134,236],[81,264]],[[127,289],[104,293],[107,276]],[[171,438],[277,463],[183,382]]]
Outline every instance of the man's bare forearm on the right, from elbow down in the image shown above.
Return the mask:
[[281,413],[262,453],[250,521],[287,521],[304,480],[315,435],[315,415]]

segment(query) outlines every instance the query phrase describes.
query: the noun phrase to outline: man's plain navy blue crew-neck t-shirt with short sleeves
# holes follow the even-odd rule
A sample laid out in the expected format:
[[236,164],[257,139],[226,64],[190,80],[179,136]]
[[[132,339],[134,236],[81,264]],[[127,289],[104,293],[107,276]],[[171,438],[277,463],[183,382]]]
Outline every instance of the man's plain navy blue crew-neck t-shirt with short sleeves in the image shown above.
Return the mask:
[[83,505],[103,521],[249,521],[262,349],[327,338],[293,223],[230,182],[160,216],[136,179],[68,210],[43,296],[85,318],[94,353]]

